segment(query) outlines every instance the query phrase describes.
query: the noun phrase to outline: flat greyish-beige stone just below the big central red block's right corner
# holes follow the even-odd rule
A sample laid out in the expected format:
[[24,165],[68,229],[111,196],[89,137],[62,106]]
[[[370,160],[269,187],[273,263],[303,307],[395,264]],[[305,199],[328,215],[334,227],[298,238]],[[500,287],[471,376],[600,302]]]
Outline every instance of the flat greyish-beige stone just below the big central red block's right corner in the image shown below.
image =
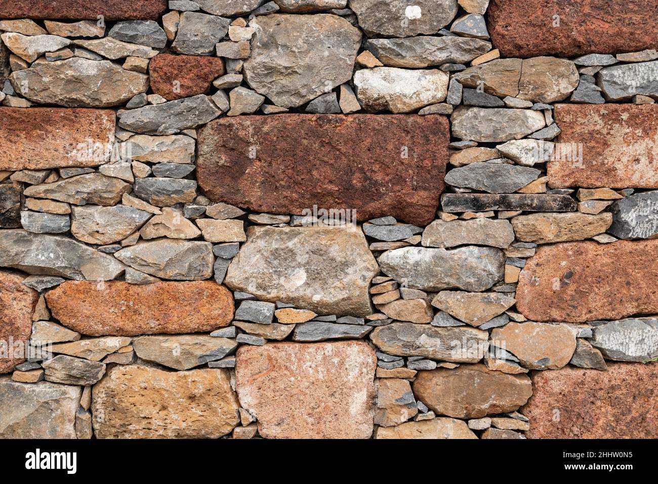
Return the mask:
[[505,249],[514,241],[514,230],[507,220],[434,220],[422,233],[423,247],[447,249],[457,245],[489,245]]

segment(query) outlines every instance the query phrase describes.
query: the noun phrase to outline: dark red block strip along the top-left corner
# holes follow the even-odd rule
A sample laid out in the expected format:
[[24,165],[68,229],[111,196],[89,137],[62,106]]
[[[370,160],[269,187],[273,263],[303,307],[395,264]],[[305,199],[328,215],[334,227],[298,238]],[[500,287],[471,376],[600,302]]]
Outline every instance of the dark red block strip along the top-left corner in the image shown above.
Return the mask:
[[158,20],[166,0],[0,0],[0,18]]

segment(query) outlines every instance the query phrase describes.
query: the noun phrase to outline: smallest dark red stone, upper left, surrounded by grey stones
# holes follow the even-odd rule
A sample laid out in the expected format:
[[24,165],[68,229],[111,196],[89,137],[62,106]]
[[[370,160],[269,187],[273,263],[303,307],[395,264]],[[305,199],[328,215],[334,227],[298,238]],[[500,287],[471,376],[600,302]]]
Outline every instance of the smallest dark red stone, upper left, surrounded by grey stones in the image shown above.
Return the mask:
[[149,62],[151,89],[164,99],[205,94],[213,80],[224,74],[224,61],[219,57],[197,55],[156,55]]

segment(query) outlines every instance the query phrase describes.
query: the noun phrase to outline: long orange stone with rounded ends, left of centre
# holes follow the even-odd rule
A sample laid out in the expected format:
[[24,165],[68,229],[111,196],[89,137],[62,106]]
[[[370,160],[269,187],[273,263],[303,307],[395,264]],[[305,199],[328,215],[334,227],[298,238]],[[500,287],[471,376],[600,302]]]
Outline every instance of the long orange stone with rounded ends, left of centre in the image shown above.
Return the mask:
[[234,313],[231,293],[215,281],[67,281],[46,301],[63,326],[90,336],[213,331],[228,326]]

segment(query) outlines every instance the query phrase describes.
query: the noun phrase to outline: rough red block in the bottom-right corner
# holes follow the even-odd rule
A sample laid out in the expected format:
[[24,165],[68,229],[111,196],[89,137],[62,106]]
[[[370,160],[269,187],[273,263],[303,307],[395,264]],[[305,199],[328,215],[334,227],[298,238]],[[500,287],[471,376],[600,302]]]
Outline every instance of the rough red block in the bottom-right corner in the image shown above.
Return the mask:
[[530,439],[655,439],[658,364],[609,363],[608,370],[565,366],[534,372],[521,408]]

